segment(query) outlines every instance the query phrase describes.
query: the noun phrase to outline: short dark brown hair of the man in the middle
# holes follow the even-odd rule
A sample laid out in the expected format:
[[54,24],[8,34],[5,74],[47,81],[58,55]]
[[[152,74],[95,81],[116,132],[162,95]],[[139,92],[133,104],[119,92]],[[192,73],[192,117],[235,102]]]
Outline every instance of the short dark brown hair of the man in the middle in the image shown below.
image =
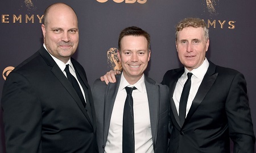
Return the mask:
[[146,31],[142,30],[139,27],[127,27],[123,29],[119,35],[118,39],[118,49],[120,51],[121,49],[121,40],[124,36],[144,36],[147,39],[147,49],[150,50],[150,34],[148,34]]

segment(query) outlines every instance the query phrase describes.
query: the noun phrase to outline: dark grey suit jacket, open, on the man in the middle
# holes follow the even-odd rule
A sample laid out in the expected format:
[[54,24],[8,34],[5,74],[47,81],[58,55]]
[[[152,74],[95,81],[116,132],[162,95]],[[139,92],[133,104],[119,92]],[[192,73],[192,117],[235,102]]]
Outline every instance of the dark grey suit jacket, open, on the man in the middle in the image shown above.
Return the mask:
[[[110,119],[113,111],[115,97],[117,96],[121,75],[117,75],[115,84],[102,82],[97,79],[92,88],[93,100],[97,116],[97,142],[99,152],[104,153],[108,139]],[[155,153],[167,152],[168,146],[168,112],[170,107],[169,89],[151,78],[144,77],[148,106],[150,110],[150,124],[152,141]],[[112,152],[110,152],[112,153]]]

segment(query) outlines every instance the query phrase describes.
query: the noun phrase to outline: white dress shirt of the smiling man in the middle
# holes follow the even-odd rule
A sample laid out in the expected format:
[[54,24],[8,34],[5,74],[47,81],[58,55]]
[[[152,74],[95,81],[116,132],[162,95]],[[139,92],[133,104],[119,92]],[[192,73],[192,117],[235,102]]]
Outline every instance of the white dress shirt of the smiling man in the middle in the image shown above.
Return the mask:
[[106,142],[105,152],[122,152],[122,125],[123,125],[123,107],[127,96],[125,87],[135,86],[138,90],[133,90],[133,108],[134,108],[134,139],[135,152],[153,153],[153,142],[150,125],[150,112],[147,99],[147,91],[144,82],[144,75],[134,85],[129,83],[123,77],[115,98],[115,103],[110,119],[109,134]]

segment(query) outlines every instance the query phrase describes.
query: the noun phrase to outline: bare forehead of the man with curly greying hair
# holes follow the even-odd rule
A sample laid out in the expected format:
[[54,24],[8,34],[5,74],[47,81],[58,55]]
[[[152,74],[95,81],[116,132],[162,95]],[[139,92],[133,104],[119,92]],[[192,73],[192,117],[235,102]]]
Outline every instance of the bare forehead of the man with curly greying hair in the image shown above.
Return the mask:
[[177,32],[177,39],[203,39],[204,29],[202,27],[185,27]]

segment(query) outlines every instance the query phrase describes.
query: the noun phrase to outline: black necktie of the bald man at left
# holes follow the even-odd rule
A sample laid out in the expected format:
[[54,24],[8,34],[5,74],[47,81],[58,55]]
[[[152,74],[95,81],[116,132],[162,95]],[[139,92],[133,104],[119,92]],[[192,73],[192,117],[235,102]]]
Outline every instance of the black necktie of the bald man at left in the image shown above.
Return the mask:
[[86,103],[85,103],[85,100],[84,100],[84,96],[82,95],[81,88],[80,88],[76,78],[73,75],[71,75],[71,73],[69,72],[69,64],[66,65],[66,68],[64,69],[64,71],[67,74],[68,81],[71,82],[73,88],[76,90],[80,100],[82,101],[82,105],[84,105],[84,107],[85,107]]

